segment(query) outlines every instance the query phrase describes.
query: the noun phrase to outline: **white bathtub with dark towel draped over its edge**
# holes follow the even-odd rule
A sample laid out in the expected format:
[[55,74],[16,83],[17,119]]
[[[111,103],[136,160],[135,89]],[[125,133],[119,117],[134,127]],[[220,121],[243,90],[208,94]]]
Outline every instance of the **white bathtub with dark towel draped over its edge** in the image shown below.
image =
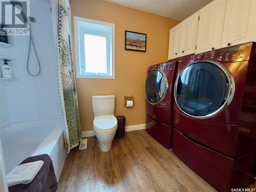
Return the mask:
[[10,123],[1,127],[0,136],[7,174],[30,156],[48,154],[59,179],[67,156],[61,123],[54,120]]

